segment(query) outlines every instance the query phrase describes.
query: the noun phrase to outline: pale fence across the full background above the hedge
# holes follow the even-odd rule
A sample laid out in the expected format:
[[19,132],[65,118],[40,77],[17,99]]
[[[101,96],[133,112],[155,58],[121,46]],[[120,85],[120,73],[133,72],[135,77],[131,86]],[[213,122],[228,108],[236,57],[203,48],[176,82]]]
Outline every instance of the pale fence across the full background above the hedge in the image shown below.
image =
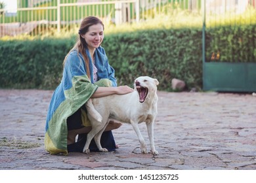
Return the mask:
[[[104,24],[140,24],[163,14],[167,22],[202,25],[203,0],[17,0],[17,8],[0,9],[0,37],[4,35],[47,35],[70,31],[85,16],[98,16]],[[217,24],[255,24],[256,0],[205,0],[208,27]],[[0,0],[1,2],[1,0]],[[243,18],[247,12],[248,18]],[[242,16],[241,16],[242,15]],[[195,18],[196,17],[196,18]],[[176,21],[175,21],[176,20]]]

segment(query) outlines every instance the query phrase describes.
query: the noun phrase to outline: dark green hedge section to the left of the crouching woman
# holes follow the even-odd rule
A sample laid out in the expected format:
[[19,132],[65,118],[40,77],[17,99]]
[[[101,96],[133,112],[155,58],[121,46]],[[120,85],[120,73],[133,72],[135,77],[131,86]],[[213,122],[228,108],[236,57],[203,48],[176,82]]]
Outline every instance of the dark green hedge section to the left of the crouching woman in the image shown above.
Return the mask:
[[71,39],[1,41],[1,88],[54,88]]

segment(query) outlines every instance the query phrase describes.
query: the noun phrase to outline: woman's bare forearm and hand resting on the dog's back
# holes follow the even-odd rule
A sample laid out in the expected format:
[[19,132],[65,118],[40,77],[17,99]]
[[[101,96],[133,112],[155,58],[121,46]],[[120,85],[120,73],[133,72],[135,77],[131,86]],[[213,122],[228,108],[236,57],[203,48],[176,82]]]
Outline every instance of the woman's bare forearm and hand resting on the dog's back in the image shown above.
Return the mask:
[[105,97],[112,94],[123,95],[133,92],[133,88],[129,86],[117,86],[117,87],[98,87],[95,93],[91,95],[92,98]]

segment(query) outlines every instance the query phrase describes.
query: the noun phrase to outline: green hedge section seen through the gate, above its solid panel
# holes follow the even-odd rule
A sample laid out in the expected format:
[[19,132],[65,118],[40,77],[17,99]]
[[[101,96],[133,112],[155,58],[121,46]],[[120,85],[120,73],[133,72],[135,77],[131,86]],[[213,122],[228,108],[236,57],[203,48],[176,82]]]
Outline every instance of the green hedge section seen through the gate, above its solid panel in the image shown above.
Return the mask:
[[[206,31],[206,61],[256,62],[256,26],[223,26]],[[212,54],[219,53],[219,59]]]

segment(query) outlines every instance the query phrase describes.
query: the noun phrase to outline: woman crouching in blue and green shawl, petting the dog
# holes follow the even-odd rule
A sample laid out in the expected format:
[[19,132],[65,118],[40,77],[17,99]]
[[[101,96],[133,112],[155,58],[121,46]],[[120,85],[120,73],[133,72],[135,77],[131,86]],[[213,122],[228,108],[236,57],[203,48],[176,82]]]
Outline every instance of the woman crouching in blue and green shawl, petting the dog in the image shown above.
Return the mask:
[[[81,22],[79,39],[64,59],[62,81],[53,93],[47,114],[45,149],[51,154],[82,152],[91,125],[85,103],[90,97],[133,92],[129,86],[118,86],[115,71],[108,63],[104,48],[104,24],[95,16]],[[121,125],[110,122],[102,134],[102,146],[116,150],[112,129]],[[75,137],[79,135],[77,142]],[[90,150],[96,150],[91,143]]]

